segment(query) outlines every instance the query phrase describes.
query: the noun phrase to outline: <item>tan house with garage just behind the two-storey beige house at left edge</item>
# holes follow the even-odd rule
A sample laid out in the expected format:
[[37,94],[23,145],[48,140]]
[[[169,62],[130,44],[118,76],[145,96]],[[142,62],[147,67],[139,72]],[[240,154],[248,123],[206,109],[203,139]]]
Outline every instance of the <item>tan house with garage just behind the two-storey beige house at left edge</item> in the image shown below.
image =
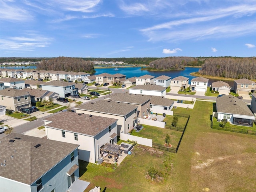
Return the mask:
[[36,103],[38,101],[42,100],[49,100],[49,98],[52,98],[53,100],[56,100],[59,96],[59,94],[47,90],[42,89],[29,89],[25,88],[27,92],[30,93],[31,102]]

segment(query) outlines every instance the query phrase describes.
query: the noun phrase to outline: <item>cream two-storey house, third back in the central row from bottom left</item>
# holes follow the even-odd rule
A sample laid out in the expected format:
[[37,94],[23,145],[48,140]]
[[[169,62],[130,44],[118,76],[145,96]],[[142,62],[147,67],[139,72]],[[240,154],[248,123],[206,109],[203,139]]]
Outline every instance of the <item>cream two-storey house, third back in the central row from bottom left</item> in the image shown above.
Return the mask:
[[127,134],[137,125],[137,108],[127,103],[99,100],[78,106],[76,112],[118,119],[117,134],[120,136],[120,132]]

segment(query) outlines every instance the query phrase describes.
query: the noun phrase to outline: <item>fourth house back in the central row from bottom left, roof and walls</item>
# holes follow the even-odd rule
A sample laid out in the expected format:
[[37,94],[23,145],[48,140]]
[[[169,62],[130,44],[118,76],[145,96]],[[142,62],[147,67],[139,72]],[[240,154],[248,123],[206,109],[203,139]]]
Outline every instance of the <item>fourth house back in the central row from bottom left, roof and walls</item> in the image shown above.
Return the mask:
[[143,116],[148,115],[150,112],[150,99],[146,95],[114,93],[109,96],[105,96],[104,99],[138,106],[136,114],[138,118],[143,118]]

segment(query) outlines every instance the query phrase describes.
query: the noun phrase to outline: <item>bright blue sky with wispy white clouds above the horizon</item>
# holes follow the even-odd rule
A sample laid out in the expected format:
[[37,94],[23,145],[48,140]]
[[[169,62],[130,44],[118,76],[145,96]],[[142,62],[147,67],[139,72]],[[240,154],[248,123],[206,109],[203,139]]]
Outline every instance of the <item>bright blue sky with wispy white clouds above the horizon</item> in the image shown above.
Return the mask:
[[250,57],[255,46],[255,0],[0,0],[1,57]]

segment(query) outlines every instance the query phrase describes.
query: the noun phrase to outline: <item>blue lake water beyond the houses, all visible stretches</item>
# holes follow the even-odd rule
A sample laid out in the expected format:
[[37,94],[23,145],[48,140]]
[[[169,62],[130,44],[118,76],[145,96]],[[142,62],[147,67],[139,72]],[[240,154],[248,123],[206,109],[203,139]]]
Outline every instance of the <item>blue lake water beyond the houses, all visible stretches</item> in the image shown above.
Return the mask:
[[[1,68],[5,69],[22,69],[28,70],[28,69],[36,69],[36,66],[0,66]],[[116,70],[117,69],[117,70]],[[194,67],[186,67],[185,70],[172,70],[172,71],[147,71],[147,70],[141,70],[141,67],[117,67],[117,68],[95,68],[96,72],[93,75],[98,75],[101,73],[109,73],[109,74],[116,74],[121,73],[126,75],[126,78],[130,77],[139,77],[142,75],[152,75],[155,77],[166,75],[171,78],[175,78],[178,76],[184,76],[189,78],[189,83],[192,78],[195,78],[195,76],[190,75],[192,72],[198,72],[200,68],[194,68]],[[216,82],[216,79],[209,79],[209,85],[213,82]],[[232,88],[234,87],[234,81],[230,80],[223,80],[224,82],[228,83]]]

